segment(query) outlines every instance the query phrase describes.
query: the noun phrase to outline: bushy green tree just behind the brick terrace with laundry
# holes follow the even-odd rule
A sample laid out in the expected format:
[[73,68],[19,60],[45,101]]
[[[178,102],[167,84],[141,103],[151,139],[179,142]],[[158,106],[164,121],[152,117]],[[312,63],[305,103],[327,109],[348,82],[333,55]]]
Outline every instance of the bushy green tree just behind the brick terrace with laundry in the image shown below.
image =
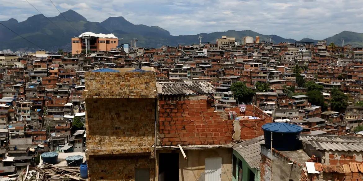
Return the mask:
[[248,104],[252,101],[253,98],[253,90],[248,88],[245,83],[238,81],[231,85],[231,91],[234,94],[234,97],[237,97],[238,102]]

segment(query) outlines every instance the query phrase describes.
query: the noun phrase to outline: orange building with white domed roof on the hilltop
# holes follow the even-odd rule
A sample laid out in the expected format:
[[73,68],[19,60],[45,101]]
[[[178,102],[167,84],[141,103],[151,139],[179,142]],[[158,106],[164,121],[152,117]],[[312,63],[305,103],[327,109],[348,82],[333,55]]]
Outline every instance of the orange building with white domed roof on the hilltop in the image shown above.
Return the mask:
[[[95,34],[85,32],[78,37],[72,38],[72,54],[81,54],[82,50],[88,51],[110,51],[118,45],[118,38],[114,34]],[[87,49],[86,49],[87,47]]]

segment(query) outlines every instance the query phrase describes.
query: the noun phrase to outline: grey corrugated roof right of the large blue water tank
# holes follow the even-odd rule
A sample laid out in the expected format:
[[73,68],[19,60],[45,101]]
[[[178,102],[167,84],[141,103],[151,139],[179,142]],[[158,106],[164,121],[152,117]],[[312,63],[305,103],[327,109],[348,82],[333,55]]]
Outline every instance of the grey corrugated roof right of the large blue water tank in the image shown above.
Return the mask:
[[363,151],[363,137],[301,134],[300,139],[317,150]]

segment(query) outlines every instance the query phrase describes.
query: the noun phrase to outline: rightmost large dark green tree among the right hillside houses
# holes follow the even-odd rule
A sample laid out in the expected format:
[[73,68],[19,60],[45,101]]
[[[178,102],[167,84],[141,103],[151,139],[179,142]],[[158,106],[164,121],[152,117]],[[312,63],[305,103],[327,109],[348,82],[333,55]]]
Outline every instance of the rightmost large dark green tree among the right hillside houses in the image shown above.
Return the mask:
[[330,108],[334,111],[343,111],[348,106],[349,96],[339,89],[331,89]]

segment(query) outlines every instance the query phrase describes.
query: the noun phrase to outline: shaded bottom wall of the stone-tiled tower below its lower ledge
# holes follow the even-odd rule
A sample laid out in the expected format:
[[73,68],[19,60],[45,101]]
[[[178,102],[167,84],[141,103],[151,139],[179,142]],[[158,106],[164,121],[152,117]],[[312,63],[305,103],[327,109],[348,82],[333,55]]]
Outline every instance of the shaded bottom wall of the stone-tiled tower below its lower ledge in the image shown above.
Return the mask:
[[150,178],[154,180],[154,159],[150,155],[123,154],[112,156],[90,156],[88,161],[91,181],[96,180],[135,180],[136,168],[150,169]]

